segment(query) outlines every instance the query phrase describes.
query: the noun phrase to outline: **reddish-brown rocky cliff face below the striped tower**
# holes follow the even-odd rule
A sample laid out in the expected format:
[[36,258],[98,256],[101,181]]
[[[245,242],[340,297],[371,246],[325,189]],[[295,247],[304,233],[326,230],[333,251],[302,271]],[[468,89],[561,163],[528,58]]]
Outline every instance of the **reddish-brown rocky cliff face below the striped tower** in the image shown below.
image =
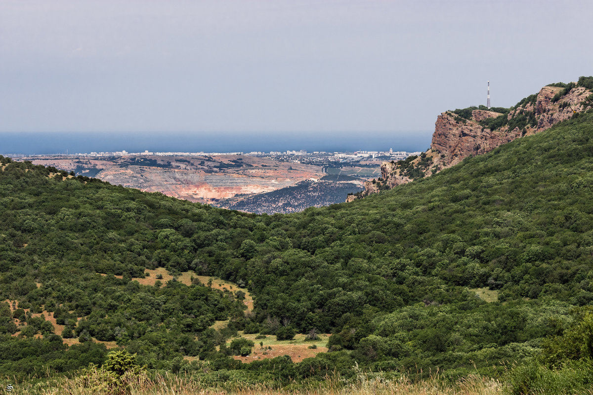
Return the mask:
[[[575,83],[568,84],[566,89],[544,86],[537,95],[523,99],[514,107],[498,109],[505,113],[474,109],[470,116],[470,109],[445,111],[436,118],[431,147],[425,153],[397,163],[383,162],[379,181],[366,182],[365,191],[358,197],[431,176],[467,156],[480,155],[518,137],[549,129],[592,108],[593,89],[590,88]],[[349,201],[355,198],[350,197]]]

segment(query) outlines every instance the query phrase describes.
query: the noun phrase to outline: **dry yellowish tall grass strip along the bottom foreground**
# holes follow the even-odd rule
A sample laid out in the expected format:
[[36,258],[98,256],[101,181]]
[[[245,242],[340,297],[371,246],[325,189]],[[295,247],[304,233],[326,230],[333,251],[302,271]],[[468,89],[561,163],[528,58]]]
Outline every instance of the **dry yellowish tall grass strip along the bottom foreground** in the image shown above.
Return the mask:
[[222,388],[203,386],[199,380],[192,377],[168,374],[157,374],[154,378],[146,374],[135,376],[126,374],[121,381],[113,383],[103,372],[95,370],[91,374],[75,378],[14,386],[12,393],[27,395],[495,395],[503,393],[503,386],[493,378],[479,375],[470,375],[453,384],[448,384],[438,375],[428,380],[412,381],[409,378],[381,380],[359,374],[353,380],[328,377],[321,384],[296,389],[275,389],[266,384]]

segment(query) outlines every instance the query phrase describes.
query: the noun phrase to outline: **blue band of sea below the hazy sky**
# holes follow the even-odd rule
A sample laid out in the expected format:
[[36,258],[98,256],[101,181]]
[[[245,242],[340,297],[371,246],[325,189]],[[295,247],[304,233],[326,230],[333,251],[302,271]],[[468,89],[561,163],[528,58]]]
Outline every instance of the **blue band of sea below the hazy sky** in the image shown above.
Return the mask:
[[286,150],[417,152],[432,131],[414,132],[0,132],[2,155],[90,152],[270,152]]

